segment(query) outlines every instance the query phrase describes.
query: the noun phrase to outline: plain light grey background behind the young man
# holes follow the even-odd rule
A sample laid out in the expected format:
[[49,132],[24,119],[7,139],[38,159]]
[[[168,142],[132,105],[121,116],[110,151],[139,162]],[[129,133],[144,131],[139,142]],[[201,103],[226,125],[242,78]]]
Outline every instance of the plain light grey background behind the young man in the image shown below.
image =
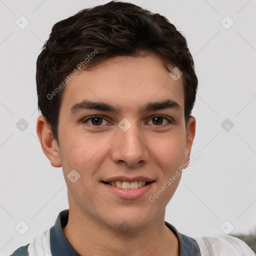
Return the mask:
[[[192,237],[219,235],[226,220],[232,233],[254,231],[256,0],[130,2],[166,16],[183,31],[199,80],[191,154],[200,150],[201,156],[183,173],[165,219]],[[35,62],[55,22],[103,3],[0,0],[1,255],[50,228],[68,208],[62,170],[50,165],[36,135]],[[29,21],[24,29],[15,24],[21,15]],[[220,23],[226,15],[234,21],[229,29]],[[21,118],[29,124],[24,131],[16,127]],[[234,123],[228,131],[220,125],[226,118]],[[23,235],[15,229],[21,220],[29,225]]]

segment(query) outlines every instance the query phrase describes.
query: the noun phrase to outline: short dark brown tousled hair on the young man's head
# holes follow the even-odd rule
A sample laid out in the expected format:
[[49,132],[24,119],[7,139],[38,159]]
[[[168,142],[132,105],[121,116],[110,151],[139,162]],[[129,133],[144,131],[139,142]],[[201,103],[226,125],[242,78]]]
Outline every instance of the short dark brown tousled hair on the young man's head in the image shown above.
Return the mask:
[[[143,56],[142,51],[153,52],[182,71],[184,117],[188,123],[198,81],[186,39],[164,16],[132,3],[111,1],[80,10],[54,24],[38,55],[38,109],[56,141],[63,81],[77,65],[82,63],[80,70],[85,70],[113,56]],[[92,52],[97,53],[88,58]]]

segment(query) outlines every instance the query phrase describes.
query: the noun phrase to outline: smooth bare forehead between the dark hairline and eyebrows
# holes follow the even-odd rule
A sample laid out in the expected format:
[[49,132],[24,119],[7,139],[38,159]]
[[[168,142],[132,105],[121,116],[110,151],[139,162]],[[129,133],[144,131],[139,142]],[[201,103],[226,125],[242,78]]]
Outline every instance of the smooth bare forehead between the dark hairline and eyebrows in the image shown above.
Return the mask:
[[184,109],[182,77],[174,80],[154,54],[116,56],[79,72],[65,85],[60,110],[70,111],[84,99],[106,102],[123,112],[163,99],[176,101]]

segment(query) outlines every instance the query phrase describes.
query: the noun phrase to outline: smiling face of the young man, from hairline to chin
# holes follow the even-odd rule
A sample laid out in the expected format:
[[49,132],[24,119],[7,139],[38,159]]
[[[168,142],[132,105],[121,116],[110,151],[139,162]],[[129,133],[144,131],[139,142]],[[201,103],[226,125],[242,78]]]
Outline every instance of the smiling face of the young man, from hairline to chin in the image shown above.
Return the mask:
[[65,86],[59,146],[46,155],[61,163],[73,211],[111,228],[141,228],[164,216],[181,175],[169,178],[189,160],[194,130],[194,118],[185,128],[181,78],[153,54],[117,56]]

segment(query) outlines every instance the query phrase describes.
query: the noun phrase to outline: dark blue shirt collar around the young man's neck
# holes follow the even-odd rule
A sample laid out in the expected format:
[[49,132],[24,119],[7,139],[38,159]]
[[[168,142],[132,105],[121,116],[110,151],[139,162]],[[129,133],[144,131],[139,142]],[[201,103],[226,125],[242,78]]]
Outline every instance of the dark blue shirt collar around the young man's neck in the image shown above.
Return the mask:
[[[52,256],[80,256],[63,234],[62,227],[67,224],[69,210],[59,212],[54,226],[50,228],[50,250]],[[165,225],[178,239],[178,256],[200,256],[197,242],[184,234],[179,233],[174,226],[165,221]]]

